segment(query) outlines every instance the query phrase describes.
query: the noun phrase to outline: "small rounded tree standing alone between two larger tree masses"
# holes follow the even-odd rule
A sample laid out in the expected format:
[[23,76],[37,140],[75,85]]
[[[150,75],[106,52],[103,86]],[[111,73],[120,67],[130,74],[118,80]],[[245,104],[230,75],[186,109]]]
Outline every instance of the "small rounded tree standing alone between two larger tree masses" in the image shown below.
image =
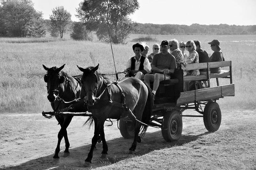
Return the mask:
[[63,6],[58,6],[52,10],[53,14],[50,15],[51,33],[60,33],[60,38],[63,38],[63,32],[66,31],[67,26],[71,22],[71,14],[64,9]]

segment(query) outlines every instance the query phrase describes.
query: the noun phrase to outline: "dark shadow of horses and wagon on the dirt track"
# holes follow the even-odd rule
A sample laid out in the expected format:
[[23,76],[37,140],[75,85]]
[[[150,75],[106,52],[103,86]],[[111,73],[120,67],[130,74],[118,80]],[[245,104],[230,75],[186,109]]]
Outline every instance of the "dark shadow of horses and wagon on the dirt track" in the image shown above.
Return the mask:
[[[200,136],[208,134],[209,132],[205,132],[198,135],[181,135],[179,141],[174,142],[166,142],[161,134],[161,131],[156,131],[152,133],[146,133],[143,138],[142,143],[138,143],[137,149],[135,151],[135,156],[144,155],[154,150],[160,150],[163,148],[171,148],[173,146],[184,145],[191,141],[196,140]],[[38,159],[33,159],[22,163],[18,166],[11,166],[4,168],[5,170],[26,170],[26,169],[37,169],[37,170],[50,170],[50,169],[91,169],[100,166],[106,166],[113,164],[117,161],[132,158],[133,155],[129,155],[128,149],[132,145],[133,139],[125,139],[125,138],[116,138],[112,140],[108,140],[108,156],[106,159],[101,159],[101,151],[102,151],[102,143],[97,144],[97,149],[93,153],[93,159],[91,167],[84,168],[82,166],[84,160],[89,153],[90,145],[84,145],[76,148],[70,148],[70,156],[64,158],[62,157],[62,153],[59,153],[60,159],[53,159],[53,154],[48,155],[46,157],[41,157]],[[55,145],[52,145],[53,150],[55,149]],[[0,168],[2,169],[2,168]]]

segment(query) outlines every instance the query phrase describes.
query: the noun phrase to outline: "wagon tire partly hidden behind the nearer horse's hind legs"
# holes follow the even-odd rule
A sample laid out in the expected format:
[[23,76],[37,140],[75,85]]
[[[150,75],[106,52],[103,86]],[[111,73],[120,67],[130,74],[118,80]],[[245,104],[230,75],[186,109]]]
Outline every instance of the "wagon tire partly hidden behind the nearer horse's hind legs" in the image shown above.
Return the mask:
[[134,138],[134,124],[132,121],[119,120],[119,128],[121,135],[126,139]]

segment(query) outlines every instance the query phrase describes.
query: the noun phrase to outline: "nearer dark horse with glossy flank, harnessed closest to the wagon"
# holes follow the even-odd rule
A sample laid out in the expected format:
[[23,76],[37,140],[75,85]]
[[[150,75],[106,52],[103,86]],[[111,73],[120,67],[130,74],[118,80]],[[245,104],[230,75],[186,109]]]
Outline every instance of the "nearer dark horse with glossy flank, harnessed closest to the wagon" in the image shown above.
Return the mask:
[[[91,149],[85,159],[84,166],[89,166],[91,163],[97,136],[103,130],[107,118],[129,118],[132,120],[135,133],[129,153],[134,153],[137,141],[140,142],[139,132],[141,131],[141,137],[143,137],[148,127],[144,124],[141,125],[136,119],[143,123],[149,123],[153,108],[151,89],[143,81],[136,78],[124,78],[117,83],[110,83],[103,75],[98,74],[96,71],[98,67],[99,65],[85,69],[78,67],[83,72],[82,83],[86,91],[85,102],[89,107],[89,112],[97,120]],[[107,145],[103,146],[102,154],[107,154]]]

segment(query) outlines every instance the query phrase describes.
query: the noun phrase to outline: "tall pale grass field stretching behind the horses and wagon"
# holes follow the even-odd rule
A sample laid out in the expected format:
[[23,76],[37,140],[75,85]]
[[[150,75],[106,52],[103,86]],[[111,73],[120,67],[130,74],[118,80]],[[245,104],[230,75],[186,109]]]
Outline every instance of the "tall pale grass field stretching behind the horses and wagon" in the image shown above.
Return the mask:
[[[147,35],[131,35],[125,45],[112,45],[117,71],[123,71],[125,62],[133,56],[132,39]],[[220,40],[225,60],[232,61],[235,97],[225,97],[218,103],[226,109],[255,109],[255,49],[256,35],[152,35],[156,42],[147,42],[150,49],[161,40],[177,39],[188,41],[198,39],[202,48],[209,54],[210,42]],[[90,53],[93,59],[90,58]],[[150,51],[149,51],[150,53]],[[46,83],[43,80],[47,67],[60,67],[66,64],[64,71],[70,75],[81,72],[76,65],[88,67],[100,64],[100,73],[115,72],[110,44],[94,40],[74,41],[71,39],[24,39],[0,38],[0,113],[3,112],[36,112],[52,110],[48,102]],[[122,77],[120,75],[119,77]],[[114,76],[110,77],[114,80]],[[220,81],[221,84],[228,83]]]

